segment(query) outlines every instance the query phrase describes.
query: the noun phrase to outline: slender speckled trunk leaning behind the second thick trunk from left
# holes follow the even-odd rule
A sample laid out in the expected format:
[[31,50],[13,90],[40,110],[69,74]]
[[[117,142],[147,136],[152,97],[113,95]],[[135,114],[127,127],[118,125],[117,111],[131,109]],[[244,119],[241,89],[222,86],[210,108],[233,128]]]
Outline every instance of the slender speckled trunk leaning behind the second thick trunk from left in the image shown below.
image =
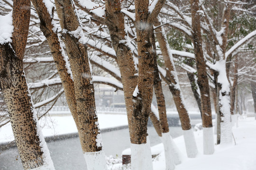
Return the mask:
[[[75,121],[76,127],[79,127],[79,120],[76,111],[76,100],[73,80],[71,77],[71,70],[69,68],[69,63],[67,62],[66,56],[64,54],[64,49],[60,45],[60,40],[57,35],[57,30],[53,26],[53,14],[48,12],[43,0],[31,0],[33,6],[37,10],[37,15],[40,19],[40,28],[43,34],[46,36],[47,42],[51,49],[53,59],[55,61],[58,74],[61,78],[61,82],[64,88],[65,97],[67,104]],[[51,1],[47,2],[52,3]],[[53,9],[49,9],[52,11]]]

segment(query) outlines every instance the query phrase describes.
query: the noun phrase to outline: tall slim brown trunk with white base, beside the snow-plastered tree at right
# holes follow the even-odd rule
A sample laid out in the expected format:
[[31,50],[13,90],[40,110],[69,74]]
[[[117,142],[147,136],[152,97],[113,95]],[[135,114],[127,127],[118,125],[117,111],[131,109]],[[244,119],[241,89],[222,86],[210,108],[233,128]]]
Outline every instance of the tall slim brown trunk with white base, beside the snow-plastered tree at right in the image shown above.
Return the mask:
[[194,44],[194,54],[197,68],[197,83],[201,94],[201,111],[203,126],[203,153],[214,153],[212,116],[210,105],[210,89],[206,70],[206,61],[202,51],[201,24],[199,13],[199,0],[191,0],[192,16],[192,39]]

